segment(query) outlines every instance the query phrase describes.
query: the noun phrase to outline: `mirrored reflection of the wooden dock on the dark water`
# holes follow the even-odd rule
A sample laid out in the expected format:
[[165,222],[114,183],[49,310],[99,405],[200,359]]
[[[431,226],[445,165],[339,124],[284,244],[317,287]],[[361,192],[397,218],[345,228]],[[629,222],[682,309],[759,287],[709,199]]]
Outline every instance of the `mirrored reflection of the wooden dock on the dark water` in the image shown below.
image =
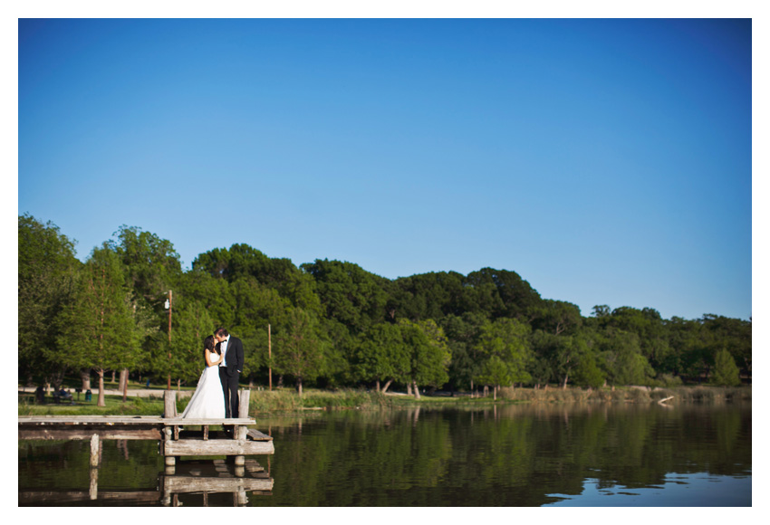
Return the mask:
[[[181,506],[180,495],[202,496],[208,506],[212,495],[232,494],[233,506],[244,506],[248,495],[273,494],[273,478],[260,463],[245,460],[244,465],[225,460],[193,460],[178,462],[159,474],[157,486],[125,491],[99,491],[98,470],[91,469],[91,487],[86,491],[20,491],[19,506],[63,506],[97,503],[105,506],[164,505]],[[217,503],[218,504],[218,503]]]

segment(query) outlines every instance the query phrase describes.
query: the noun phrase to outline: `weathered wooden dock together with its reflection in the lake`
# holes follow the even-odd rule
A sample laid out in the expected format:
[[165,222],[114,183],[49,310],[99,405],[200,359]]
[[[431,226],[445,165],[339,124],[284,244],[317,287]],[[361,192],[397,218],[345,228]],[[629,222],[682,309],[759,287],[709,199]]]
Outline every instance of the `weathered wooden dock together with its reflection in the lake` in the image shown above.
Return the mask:
[[[238,417],[221,419],[182,419],[177,415],[177,396],[167,391],[163,415],[36,415],[19,416],[19,440],[91,441],[91,483],[83,491],[19,492],[19,505],[64,504],[100,501],[102,504],[160,502],[178,506],[179,494],[203,494],[204,505],[210,494],[231,492],[236,506],[245,505],[246,494],[269,495],[273,479],[269,472],[245,456],[273,454],[273,437],[250,425],[249,391],[241,390]],[[158,488],[99,492],[101,442],[104,440],[155,440],[164,456],[165,472]],[[198,458],[226,456],[226,460],[201,462]],[[178,461],[179,458],[192,458]],[[269,460],[269,458],[268,458]],[[269,463],[268,463],[269,467]]]

